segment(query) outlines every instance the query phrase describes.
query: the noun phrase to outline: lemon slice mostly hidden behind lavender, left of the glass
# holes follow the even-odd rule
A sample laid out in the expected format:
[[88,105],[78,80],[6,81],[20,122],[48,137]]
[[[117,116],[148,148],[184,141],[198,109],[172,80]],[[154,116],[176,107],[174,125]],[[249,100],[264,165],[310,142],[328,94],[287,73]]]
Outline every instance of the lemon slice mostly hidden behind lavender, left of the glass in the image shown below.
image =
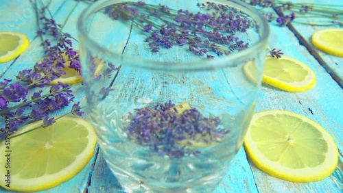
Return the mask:
[[[65,74],[61,75],[57,79],[50,81],[50,84],[58,84],[58,82],[67,83],[67,84],[75,84],[82,82],[82,76],[73,68],[69,68],[70,61],[68,60],[68,56],[65,53],[61,54],[66,62],[64,64],[63,71]],[[54,63],[56,65],[56,62]],[[99,75],[102,68],[104,68],[104,60],[100,60],[99,58],[94,58],[95,64],[95,75]]]

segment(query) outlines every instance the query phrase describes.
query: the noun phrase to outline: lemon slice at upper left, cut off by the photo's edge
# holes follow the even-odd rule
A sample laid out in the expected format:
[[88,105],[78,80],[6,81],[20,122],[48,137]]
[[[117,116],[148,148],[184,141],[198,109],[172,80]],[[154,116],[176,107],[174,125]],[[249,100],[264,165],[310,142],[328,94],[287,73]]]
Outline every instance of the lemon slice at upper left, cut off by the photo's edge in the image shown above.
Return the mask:
[[29,47],[29,39],[25,34],[0,31],[0,63],[8,62]]

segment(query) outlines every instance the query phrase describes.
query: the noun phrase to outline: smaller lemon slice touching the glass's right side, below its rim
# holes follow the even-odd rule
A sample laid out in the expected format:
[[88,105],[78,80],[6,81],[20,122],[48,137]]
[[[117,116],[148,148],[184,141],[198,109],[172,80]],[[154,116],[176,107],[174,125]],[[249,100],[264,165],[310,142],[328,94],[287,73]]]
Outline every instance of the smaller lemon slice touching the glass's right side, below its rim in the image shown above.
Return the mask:
[[314,71],[292,57],[266,57],[263,82],[289,92],[303,92],[316,85]]

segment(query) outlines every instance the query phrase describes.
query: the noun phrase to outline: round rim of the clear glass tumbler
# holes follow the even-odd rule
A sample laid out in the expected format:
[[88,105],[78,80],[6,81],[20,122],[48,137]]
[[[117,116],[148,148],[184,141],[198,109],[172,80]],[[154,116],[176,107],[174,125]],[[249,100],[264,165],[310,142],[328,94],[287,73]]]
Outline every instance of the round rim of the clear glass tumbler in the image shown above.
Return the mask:
[[[212,1],[212,0],[209,0]],[[252,17],[254,21],[257,21],[260,25],[259,30],[262,30],[259,32],[261,36],[259,36],[259,40],[252,46],[248,47],[247,49],[243,49],[241,51],[238,51],[237,53],[231,53],[228,55],[216,57],[212,60],[196,60],[191,62],[158,62],[156,60],[146,60],[140,58],[140,62],[137,62],[134,59],[138,59],[139,57],[123,57],[121,53],[110,51],[106,47],[104,47],[102,44],[99,44],[91,36],[88,36],[88,33],[86,31],[86,26],[84,25],[86,21],[88,20],[88,17],[92,14],[98,12],[99,10],[102,10],[103,8],[107,7],[108,5],[113,5],[114,3],[121,2],[120,0],[109,0],[109,1],[96,1],[95,3],[88,5],[88,7],[82,11],[78,18],[77,22],[77,29],[78,29],[78,35],[81,40],[87,41],[86,47],[92,47],[91,49],[97,53],[103,53],[106,56],[109,57],[120,57],[121,61],[132,63],[133,61],[136,62],[136,64],[129,64],[130,66],[137,66],[141,68],[148,68],[148,69],[156,69],[156,70],[200,70],[200,69],[213,69],[213,68],[223,68],[224,66],[235,66],[239,62],[246,61],[246,57],[248,55],[252,55],[255,53],[256,50],[259,49],[266,49],[265,44],[268,41],[268,38],[270,36],[270,26],[268,21],[265,19],[265,16],[259,12],[256,8],[252,7],[252,5],[249,5],[248,3],[244,3],[243,1],[237,1],[237,0],[214,0],[214,1],[222,1],[223,3],[226,3],[228,5],[238,5],[238,10],[243,10],[248,16]],[[84,43],[80,43],[84,44]],[[81,51],[82,49],[80,49]],[[201,65],[199,65],[199,62],[201,61]],[[230,61],[230,62],[228,62]],[[246,61],[247,62],[247,61]],[[138,63],[138,64],[137,64]]]

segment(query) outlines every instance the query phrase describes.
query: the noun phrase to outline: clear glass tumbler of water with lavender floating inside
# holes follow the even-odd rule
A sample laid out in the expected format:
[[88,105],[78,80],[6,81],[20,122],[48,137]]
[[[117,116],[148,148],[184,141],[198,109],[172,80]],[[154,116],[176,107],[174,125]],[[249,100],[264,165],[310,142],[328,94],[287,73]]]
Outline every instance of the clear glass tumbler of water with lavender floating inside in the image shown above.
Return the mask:
[[211,192],[241,148],[268,22],[241,1],[98,1],[78,20],[88,113],[126,192]]

